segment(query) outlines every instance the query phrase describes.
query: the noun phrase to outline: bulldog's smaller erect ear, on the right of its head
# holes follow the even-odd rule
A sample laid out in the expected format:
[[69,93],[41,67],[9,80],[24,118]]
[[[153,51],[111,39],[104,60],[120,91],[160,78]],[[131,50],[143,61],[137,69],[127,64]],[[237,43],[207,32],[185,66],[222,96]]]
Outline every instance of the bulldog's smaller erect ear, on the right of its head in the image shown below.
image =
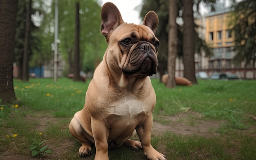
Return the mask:
[[155,33],[158,26],[158,16],[154,11],[149,11],[143,21],[143,25],[148,26]]

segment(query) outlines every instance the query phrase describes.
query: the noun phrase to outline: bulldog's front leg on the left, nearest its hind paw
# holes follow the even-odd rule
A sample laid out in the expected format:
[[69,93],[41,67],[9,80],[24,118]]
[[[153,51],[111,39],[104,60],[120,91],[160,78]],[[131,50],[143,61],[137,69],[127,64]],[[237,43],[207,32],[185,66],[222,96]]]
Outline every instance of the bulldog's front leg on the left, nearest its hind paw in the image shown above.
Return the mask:
[[109,129],[105,122],[91,118],[92,134],[95,142],[96,154],[94,160],[109,160],[108,135]]

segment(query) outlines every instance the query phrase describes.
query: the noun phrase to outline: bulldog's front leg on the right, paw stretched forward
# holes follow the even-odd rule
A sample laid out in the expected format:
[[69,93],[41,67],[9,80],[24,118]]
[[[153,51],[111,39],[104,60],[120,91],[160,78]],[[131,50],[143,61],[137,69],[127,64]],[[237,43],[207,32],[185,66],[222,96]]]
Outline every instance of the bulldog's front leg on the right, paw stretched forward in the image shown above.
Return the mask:
[[136,131],[139,139],[141,140],[144,154],[149,160],[166,160],[166,156],[155,150],[150,143],[152,125],[153,116],[150,114],[147,118],[145,118],[144,124],[136,127]]

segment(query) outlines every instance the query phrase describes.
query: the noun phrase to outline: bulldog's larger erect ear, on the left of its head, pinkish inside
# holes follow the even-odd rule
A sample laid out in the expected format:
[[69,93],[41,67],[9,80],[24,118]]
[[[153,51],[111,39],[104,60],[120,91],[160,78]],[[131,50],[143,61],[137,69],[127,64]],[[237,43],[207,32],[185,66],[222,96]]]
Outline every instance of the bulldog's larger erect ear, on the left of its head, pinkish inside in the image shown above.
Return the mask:
[[101,34],[108,37],[109,33],[121,23],[124,23],[124,20],[115,4],[105,3],[101,9]]

